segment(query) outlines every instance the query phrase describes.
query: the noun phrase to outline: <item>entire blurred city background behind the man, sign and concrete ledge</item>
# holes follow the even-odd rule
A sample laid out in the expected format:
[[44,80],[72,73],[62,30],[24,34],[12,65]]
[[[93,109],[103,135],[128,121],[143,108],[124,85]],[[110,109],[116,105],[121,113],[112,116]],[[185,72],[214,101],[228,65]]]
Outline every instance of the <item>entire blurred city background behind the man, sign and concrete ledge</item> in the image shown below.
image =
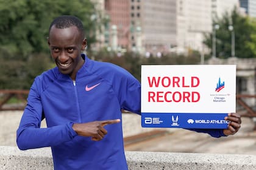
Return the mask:
[[236,110],[243,124],[235,138],[143,129],[140,116],[125,112],[127,151],[254,154],[255,0],[0,0],[0,145],[16,145],[29,88],[55,66],[47,37],[59,15],[83,21],[89,58],[118,64],[138,80],[142,64],[236,64]]

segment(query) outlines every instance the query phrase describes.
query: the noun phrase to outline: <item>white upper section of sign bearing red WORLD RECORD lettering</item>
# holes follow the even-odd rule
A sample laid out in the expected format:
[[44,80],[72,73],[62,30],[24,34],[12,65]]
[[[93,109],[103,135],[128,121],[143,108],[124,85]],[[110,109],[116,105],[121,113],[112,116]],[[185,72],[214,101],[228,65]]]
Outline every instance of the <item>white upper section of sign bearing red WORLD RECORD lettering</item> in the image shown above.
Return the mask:
[[141,66],[141,112],[235,112],[235,92],[235,65]]

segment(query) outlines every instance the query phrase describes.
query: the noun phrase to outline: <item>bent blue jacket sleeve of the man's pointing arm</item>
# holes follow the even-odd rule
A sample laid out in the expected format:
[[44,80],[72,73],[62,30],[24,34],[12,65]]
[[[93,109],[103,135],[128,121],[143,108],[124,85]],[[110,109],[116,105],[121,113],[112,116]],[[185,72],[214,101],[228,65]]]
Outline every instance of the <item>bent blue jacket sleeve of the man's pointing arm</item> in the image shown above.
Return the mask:
[[73,123],[61,126],[40,128],[43,108],[36,81],[32,84],[27,98],[27,106],[16,131],[16,143],[21,150],[56,146],[73,139]]

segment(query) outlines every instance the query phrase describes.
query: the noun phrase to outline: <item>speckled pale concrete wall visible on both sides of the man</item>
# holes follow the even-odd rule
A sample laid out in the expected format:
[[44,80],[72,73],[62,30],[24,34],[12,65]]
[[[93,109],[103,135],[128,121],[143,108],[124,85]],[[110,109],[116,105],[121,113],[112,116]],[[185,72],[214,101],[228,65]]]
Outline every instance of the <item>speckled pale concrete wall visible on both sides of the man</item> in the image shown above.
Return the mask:
[[[256,155],[187,154],[126,151],[130,170],[140,169],[256,169]],[[0,146],[0,169],[53,169],[49,148],[20,151],[15,146]]]

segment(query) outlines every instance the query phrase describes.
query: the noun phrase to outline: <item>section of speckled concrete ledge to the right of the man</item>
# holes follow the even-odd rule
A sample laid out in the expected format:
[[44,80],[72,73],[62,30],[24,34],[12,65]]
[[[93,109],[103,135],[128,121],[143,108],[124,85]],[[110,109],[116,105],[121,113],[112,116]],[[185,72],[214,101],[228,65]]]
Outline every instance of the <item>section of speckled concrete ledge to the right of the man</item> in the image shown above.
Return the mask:
[[255,155],[126,152],[129,169],[256,169]]

